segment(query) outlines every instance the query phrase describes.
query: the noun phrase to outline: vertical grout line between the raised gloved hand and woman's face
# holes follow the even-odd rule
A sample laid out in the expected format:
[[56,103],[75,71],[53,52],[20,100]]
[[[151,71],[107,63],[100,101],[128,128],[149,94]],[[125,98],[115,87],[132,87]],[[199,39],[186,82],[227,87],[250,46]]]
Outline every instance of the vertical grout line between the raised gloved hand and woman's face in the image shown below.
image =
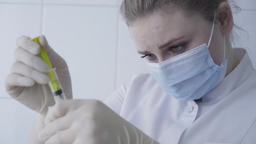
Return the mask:
[[[117,0],[117,5],[118,5],[119,1]],[[117,24],[117,29],[116,29],[116,48],[115,48],[115,82],[114,82],[114,88],[115,90],[117,89],[117,60],[118,60],[118,49],[119,49],[119,9],[118,9],[118,6],[117,6],[117,11],[116,11],[116,16],[117,16],[117,19],[116,19],[116,24]],[[114,91],[115,91],[114,90]]]

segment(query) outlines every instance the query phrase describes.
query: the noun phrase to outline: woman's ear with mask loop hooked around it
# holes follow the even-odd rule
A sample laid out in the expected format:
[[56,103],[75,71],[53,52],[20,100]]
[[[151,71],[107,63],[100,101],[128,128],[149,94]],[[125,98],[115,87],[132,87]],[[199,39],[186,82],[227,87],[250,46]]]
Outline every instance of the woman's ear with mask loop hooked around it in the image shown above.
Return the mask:
[[217,9],[217,12],[219,13],[217,19],[220,23],[222,35],[227,35],[233,28],[233,14],[229,3],[221,3]]

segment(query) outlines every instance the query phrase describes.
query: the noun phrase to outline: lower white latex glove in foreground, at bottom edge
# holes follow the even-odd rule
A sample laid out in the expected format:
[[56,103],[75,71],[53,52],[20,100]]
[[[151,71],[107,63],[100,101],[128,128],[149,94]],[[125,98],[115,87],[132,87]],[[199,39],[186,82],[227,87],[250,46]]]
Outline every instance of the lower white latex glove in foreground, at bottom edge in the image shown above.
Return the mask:
[[158,144],[96,100],[57,101],[45,124],[45,144]]

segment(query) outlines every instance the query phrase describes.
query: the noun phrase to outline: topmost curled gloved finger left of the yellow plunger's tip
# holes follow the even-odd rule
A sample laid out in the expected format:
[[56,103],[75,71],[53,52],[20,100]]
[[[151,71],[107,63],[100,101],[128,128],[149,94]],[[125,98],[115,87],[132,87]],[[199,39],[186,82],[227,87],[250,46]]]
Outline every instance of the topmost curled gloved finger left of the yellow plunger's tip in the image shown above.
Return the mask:
[[34,55],[37,55],[40,53],[40,45],[30,40],[30,37],[27,37],[27,36],[18,37],[16,40],[16,43],[18,47],[23,48],[29,53],[32,53]]

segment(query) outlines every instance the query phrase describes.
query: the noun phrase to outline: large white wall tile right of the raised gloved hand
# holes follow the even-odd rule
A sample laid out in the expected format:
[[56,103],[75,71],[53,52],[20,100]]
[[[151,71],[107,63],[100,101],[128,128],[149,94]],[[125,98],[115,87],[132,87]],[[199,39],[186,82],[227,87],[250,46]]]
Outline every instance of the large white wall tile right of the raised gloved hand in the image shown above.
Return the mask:
[[117,8],[44,7],[43,34],[69,64],[75,98],[105,99],[114,91],[116,28]]

